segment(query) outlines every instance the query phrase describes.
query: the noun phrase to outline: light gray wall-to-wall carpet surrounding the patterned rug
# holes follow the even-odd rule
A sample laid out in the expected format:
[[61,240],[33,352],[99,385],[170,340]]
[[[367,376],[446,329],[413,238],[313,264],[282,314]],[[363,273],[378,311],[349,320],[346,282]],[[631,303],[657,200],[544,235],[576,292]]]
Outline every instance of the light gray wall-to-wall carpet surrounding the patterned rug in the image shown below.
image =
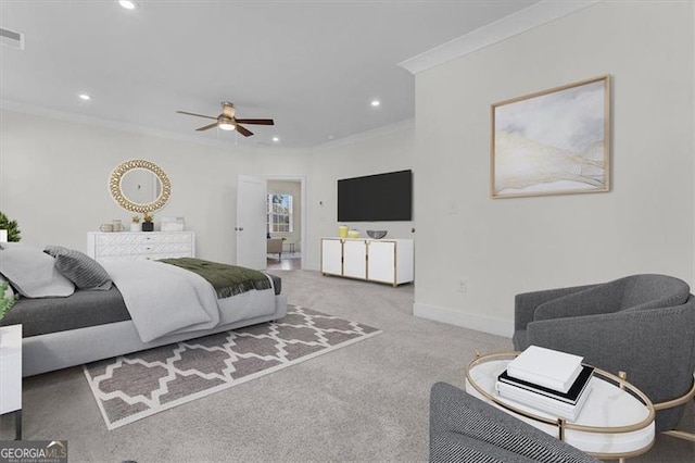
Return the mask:
[[[506,338],[413,317],[413,286],[275,273],[290,303],[383,334],[114,430],[80,367],[26,378],[25,438],[67,439],[71,462],[427,461],[431,385],[462,387],[476,349],[511,349]],[[683,428],[695,429],[694,408]],[[12,435],[3,416],[0,439]],[[695,443],[659,436],[629,461],[694,459]]]

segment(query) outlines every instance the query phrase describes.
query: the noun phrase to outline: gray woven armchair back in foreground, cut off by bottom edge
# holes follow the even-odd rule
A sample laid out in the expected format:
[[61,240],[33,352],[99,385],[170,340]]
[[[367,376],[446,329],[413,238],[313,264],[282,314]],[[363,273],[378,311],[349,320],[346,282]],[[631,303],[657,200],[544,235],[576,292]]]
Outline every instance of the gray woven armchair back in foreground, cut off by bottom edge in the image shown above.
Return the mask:
[[430,461],[596,463],[598,460],[445,383],[430,393]]

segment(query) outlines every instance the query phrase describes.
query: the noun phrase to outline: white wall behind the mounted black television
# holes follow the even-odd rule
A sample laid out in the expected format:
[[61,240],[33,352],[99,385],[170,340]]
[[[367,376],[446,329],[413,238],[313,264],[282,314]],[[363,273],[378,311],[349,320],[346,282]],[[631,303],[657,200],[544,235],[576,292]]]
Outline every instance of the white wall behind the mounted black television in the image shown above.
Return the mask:
[[[320,239],[338,236],[338,180],[340,178],[381,174],[413,168],[414,137],[412,122],[374,130],[363,136],[326,143],[311,150],[308,165],[307,200],[308,226],[304,268],[320,268]],[[418,184],[414,180],[414,196]],[[417,202],[414,199],[414,204]],[[414,205],[415,208],[415,205]],[[414,218],[417,218],[414,212]],[[354,222],[351,228],[366,237],[368,229],[386,229],[389,238],[415,239],[410,232],[415,221],[408,222]]]

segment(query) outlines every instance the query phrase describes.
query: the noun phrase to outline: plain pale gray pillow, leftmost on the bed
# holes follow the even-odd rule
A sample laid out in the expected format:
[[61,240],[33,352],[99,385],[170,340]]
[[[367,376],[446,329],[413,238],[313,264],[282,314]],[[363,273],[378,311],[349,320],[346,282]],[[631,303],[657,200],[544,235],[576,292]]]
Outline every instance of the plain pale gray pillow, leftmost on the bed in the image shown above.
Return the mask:
[[55,268],[55,259],[30,246],[5,246],[0,251],[0,273],[27,298],[60,298],[75,292],[75,285]]

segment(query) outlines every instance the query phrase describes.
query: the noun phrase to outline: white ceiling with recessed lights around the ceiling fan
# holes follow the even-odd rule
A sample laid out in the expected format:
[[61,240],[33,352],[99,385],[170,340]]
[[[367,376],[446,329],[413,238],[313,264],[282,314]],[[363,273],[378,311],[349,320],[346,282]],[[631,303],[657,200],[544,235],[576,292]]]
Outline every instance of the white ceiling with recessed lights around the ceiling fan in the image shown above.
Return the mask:
[[[408,120],[414,76],[397,64],[538,0],[0,2],[0,26],[25,49],[0,46],[5,107],[58,110],[190,137],[309,147]],[[92,100],[77,98],[86,92]],[[379,108],[369,103],[381,100]],[[271,117],[243,139],[212,129]]]

